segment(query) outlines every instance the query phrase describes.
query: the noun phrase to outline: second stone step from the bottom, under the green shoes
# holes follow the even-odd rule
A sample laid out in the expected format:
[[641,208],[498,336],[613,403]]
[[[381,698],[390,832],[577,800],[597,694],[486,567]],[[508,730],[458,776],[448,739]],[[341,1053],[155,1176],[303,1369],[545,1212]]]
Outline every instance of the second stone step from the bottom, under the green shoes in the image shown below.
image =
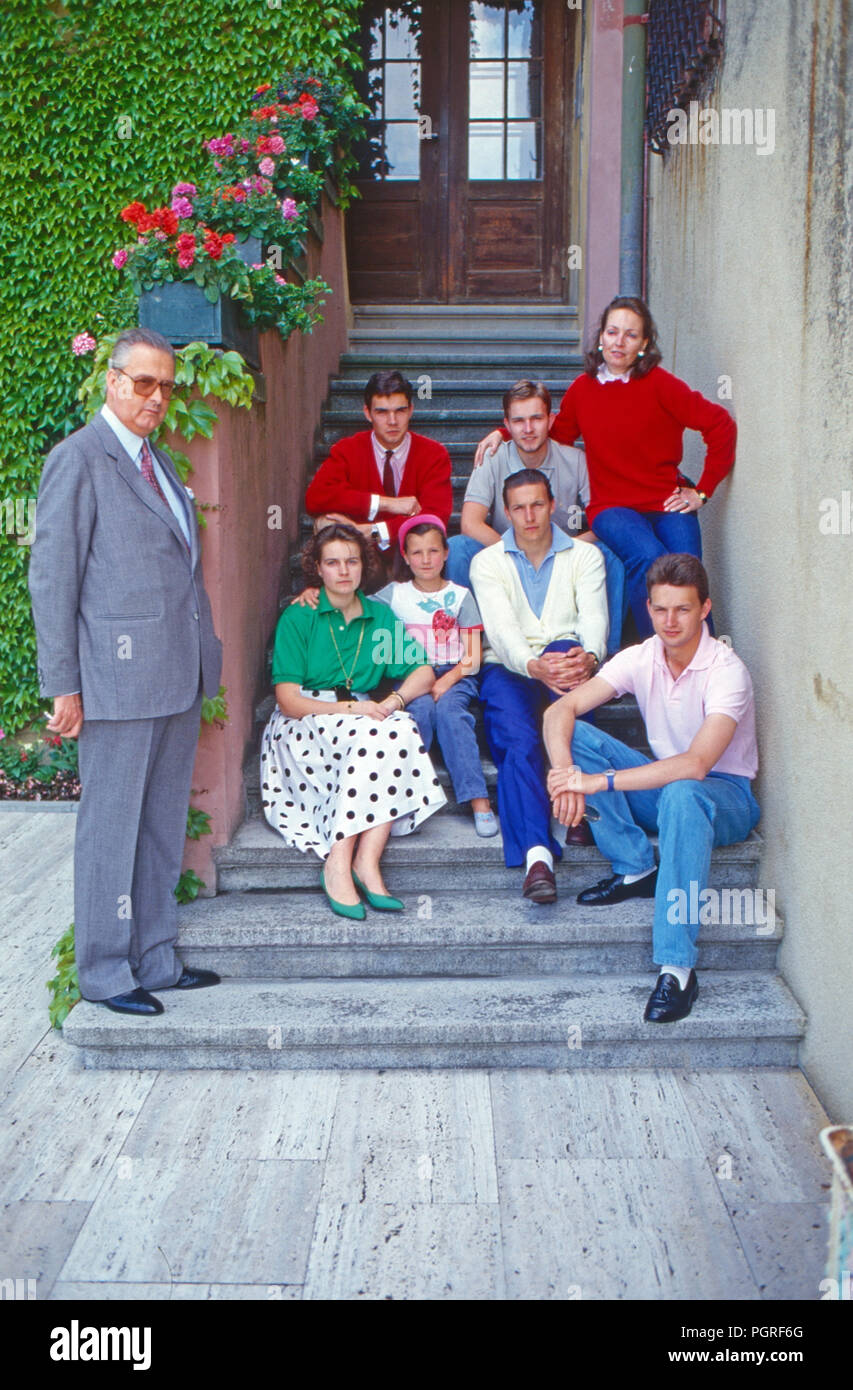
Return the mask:
[[[421,894],[404,912],[368,908],[350,922],[320,888],[226,892],[181,909],[178,948],[188,966],[228,979],[610,974],[652,969],[653,909],[633,898],[608,910],[567,899],[553,910],[527,902],[517,884]],[[727,898],[715,916],[725,920],[702,927],[699,969],[774,969],[782,923],[775,913],[764,922],[763,898]]]

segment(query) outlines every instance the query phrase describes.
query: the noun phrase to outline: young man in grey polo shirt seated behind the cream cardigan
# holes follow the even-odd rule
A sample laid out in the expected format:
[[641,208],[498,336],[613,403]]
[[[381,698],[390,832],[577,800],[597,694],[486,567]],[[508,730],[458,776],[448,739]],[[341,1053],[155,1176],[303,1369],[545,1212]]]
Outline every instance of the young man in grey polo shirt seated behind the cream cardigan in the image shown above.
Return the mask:
[[539,468],[554,495],[554,525],[575,541],[597,545],[604,556],[610,656],[618,652],[622,635],[625,571],[618,556],[596,541],[592,531],[581,531],[583,509],[589,502],[586,455],[549,439],[547,431],[554,416],[550,392],[542,381],[517,381],[510,386],[503,396],[503,414],[511,438],[495,453],[486,455],[483,463],[471,473],[463,502],[461,535],[449,541],[445,573],[454,584],[470,588],[471,560],[478,550],[500,541],[508,527],[502,496],[506,478],[520,468]]

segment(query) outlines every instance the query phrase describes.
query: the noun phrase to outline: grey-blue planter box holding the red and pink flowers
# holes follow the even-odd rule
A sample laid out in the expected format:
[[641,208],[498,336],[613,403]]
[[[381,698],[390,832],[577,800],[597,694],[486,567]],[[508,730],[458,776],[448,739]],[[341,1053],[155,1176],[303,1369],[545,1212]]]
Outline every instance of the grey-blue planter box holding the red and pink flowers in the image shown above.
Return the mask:
[[[236,245],[240,259],[253,265],[261,259],[261,243],[250,236]],[[260,339],[240,311],[239,299],[220,297],[214,304],[189,279],[157,285],[139,296],[139,327],[153,328],[175,348],[206,342],[213,348],[235,348],[250,367],[260,368]]]

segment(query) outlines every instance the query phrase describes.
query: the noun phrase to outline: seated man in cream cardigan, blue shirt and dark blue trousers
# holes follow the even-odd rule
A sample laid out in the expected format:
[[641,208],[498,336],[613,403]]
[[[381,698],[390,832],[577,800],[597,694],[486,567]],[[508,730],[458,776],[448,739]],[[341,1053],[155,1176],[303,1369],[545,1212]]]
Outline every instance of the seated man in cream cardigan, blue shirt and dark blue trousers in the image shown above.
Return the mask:
[[604,659],[604,562],[593,545],[553,524],[550,482],[538,468],[510,474],[503,505],[510,528],[471,562],[489,644],[479,694],[497,767],[504,862],[525,866],[525,898],[554,902],[561,851],[550,830],[542,716]]

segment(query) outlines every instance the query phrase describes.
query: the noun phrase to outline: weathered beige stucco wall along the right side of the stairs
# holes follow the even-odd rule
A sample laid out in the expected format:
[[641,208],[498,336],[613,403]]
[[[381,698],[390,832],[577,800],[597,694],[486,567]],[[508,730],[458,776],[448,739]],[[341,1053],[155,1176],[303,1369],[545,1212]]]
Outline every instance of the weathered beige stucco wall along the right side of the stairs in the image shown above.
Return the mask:
[[[775,891],[779,965],[809,1013],[802,1065],[850,1120],[853,3],[729,0],[727,11],[707,104],[772,108],[775,149],[652,156],[649,297],[664,366],[711,398],[720,375],[732,382],[738,461],[702,514],[717,631],[756,687],[761,885]],[[689,441],[697,477],[702,441]],[[822,534],[825,499],[846,534]]]

